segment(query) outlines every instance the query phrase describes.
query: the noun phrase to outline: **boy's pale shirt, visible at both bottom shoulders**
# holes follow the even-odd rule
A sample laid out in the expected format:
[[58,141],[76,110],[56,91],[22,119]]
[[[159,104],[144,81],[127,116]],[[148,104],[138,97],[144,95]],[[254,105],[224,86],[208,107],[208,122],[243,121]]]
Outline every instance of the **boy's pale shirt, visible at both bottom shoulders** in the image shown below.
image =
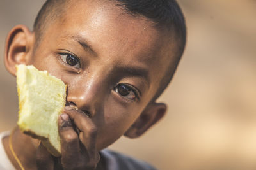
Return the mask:
[[[6,152],[3,146],[4,136],[8,136],[10,132],[0,133],[0,169],[1,170],[15,170],[15,167],[12,165],[8,159]],[[141,160],[133,159],[126,155],[122,155],[111,150],[102,150],[100,151],[102,157],[106,162],[106,170],[156,170],[154,167],[150,166],[146,162]]]

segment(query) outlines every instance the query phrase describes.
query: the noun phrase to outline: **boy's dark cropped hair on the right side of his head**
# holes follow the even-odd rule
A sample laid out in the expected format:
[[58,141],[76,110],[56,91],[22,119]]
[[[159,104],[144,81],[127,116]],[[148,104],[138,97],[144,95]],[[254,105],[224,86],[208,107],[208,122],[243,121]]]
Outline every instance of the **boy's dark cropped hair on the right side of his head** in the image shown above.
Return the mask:
[[[175,56],[175,65],[172,64],[168,67],[163,80],[159,83],[159,88],[152,98],[156,100],[166,89],[173,74],[179,64],[179,60],[184,52],[186,45],[186,23],[182,10],[179,4],[175,0],[116,0],[118,6],[130,13],[131,15],[139,15],[153,21],[157,27],[164,27],[167,30],[174,29],[177,52]],[[166,61],[168,62],[168,61]]]

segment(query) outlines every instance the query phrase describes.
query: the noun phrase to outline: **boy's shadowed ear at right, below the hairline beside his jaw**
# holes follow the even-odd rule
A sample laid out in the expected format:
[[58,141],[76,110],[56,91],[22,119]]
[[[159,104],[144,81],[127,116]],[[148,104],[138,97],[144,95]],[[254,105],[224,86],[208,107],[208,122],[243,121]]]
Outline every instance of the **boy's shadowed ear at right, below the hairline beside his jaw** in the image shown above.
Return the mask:
[[152,125],[156,124],[166,113],[167,106],[164,103],[150,103],[141,113],[140,117],[125,132],[129,138],[137,138],[146,132]]

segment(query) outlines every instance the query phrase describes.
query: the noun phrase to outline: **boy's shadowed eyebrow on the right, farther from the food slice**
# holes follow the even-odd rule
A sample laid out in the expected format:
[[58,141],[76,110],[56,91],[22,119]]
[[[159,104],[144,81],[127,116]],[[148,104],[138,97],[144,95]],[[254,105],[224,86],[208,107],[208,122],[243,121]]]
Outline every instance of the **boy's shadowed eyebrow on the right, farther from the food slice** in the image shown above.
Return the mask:
[[140,76],[141,78],[146,80],[147,86],[149,87],[150,79],[149,79],[148,69],[145,69],[143,67],[136,67],[136,66],[127,66],[127,67],[117,66],[116,71],[118,73],[129,74],[131,76]]

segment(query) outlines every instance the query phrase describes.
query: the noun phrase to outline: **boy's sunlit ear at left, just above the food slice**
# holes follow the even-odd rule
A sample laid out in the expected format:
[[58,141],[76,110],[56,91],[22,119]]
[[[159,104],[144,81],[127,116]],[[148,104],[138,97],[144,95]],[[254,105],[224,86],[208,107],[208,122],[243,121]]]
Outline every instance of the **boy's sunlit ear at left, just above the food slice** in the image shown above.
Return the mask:
[[33,45],[33,32],[24,25],[17,25],[6,38],[4,64],[6,69],[15,76],[16,64],[26,64]]

